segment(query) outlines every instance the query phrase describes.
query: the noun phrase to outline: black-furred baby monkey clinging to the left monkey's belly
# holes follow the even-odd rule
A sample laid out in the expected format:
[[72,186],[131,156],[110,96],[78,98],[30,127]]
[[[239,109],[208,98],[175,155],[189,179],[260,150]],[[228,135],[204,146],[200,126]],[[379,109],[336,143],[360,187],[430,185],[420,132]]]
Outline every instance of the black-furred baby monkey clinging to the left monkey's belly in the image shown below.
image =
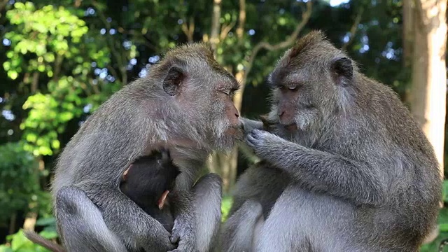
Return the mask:
[[120,190],[171,232],[174,220],[168,194],[180,173],[168,150],[153,151],[130,165],[123,174]]

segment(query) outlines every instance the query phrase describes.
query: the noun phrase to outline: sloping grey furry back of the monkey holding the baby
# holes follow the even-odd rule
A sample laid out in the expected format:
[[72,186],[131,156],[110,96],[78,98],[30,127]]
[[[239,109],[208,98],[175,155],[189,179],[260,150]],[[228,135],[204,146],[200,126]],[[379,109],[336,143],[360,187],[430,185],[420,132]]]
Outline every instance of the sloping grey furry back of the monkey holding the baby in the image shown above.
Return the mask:
[[148,130],[139,127],[151,124],[148,111],[138,106],[144,100],[143,90],[135,94],[138,87],[138,81],[123,87],[81,125],[57,160],[53,196],[62,186],[109,183],[118,188],[130,160],[144,151],[134,146],[145,146],[149,138]]

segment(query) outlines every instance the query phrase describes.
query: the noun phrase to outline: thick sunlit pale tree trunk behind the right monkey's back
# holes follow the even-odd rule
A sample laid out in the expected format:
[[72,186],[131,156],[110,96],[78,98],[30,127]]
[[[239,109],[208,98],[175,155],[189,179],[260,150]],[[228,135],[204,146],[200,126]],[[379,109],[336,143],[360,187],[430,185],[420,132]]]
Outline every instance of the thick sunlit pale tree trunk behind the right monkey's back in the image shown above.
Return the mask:
[[447,0],[416,0],[411,109],[434,147],[443,177],[447,96]]

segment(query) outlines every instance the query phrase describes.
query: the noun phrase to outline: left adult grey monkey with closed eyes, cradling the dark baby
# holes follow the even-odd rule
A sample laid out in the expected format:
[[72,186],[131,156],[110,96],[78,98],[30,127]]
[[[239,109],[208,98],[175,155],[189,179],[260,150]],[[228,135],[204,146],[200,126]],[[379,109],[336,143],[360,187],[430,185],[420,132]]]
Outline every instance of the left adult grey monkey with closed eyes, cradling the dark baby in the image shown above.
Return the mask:
[[[99,106],[55,167],[53,211],[66,250],[213,249],[222,180],[216,174],[197,179],[212,151],[229,151],[239,138],[232,102],[238,88],[209,46],[193,43],[169,50],[147,76]],[[170,192],[171,234],[119,190],[125,169],[160,148],[170,151],[181,170]]]

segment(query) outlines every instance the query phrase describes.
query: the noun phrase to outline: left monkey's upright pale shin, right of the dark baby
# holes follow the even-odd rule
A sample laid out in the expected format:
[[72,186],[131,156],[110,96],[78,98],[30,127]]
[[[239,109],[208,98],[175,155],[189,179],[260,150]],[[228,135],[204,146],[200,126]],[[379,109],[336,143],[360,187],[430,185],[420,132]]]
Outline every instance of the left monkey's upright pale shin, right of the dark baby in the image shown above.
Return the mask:
[[217,174],[202,176],[193,187],[197,251],[213,251],[221,227],[223,181]]

